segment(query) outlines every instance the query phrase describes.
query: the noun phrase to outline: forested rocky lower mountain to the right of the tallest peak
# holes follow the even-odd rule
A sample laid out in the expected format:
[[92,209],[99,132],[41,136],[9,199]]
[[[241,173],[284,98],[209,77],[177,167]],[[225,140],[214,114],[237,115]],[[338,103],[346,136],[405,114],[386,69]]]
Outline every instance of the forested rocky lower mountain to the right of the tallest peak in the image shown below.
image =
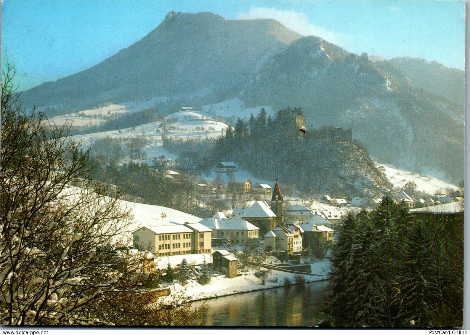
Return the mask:
[[380,162],[463,178],[462,107],[414,86],[392,62],[372,62],[367,54],[304,37],[274,56],[243,97],[253,106],[303,106],[307,124],[315,127],[352,127]]

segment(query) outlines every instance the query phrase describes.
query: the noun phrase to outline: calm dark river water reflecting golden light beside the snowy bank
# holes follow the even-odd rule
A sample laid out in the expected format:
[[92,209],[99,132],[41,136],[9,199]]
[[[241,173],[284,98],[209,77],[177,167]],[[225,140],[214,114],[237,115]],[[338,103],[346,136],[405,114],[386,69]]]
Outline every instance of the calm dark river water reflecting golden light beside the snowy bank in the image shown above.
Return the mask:
[[314,327],[325,318],[320,309],[327,286],[321,281],[209,299],[202,325]]

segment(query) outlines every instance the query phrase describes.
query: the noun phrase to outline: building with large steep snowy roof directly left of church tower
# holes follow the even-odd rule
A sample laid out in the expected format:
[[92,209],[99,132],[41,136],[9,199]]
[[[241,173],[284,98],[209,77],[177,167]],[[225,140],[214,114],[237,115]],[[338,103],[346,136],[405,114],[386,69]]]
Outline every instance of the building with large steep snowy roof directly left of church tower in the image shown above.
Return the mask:
[[247,208],[235,208],[232,212],[233,218],[243,218],[254,226],[259,227],[261,234],[277,226],[277,216],[264,201],[255,201]]

